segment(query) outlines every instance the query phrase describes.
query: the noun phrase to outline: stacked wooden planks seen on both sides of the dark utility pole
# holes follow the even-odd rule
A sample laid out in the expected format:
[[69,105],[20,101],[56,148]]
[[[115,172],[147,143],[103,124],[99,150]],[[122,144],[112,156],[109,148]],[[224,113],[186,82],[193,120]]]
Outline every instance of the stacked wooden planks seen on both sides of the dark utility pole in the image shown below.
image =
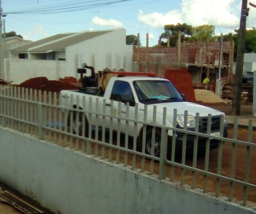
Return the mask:
[[[233,100],[234,84],[225,84],[222,89],[222,99]],[[253,85],[242,84],[241,101],[243,103],[252,103]]]

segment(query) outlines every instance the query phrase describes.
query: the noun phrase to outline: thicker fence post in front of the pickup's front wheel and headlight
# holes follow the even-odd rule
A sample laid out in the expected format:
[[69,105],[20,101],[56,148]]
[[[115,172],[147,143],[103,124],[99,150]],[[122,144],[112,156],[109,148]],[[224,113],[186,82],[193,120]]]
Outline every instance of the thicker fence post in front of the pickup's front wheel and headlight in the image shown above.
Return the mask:
[[159,161],[159,176],[158,179],[165,179],[165,160],[167,154],[167,141],[168,141],[168,130],[166,126],[166,107],[163,108],[163,127],[161,131],[161,147],[160,147],[160,161]]

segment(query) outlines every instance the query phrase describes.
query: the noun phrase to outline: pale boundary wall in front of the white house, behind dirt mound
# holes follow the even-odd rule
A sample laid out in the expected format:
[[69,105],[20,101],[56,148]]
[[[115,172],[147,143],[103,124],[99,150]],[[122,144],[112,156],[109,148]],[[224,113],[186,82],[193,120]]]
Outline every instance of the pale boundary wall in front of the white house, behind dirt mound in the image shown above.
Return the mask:
[[58,80],[66,76],[66,61],[4,59],[4,79],[13,84],[33,78],[46,76],[49,80]]

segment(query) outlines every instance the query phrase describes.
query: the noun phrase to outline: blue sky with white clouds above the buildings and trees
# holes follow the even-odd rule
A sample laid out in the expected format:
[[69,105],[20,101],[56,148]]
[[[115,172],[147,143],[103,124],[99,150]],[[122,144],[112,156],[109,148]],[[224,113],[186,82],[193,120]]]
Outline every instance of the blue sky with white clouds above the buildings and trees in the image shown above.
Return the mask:
[[[94,8],[81,7],[109,1],[117,2]],[[149,46],[153,46],[164,32],[165,24],[187,23],[193,27],[212,24],[215,35],[234,32],[239,28],[242,0],[1,0],[1,4],[6,13],[6,32],[15,31],[24,39],[36,41],[57,33],[124,28],[127,35],[140,33],[144,46],[146,33],[149,33]],[[70,4],[81,10],[13,13]],[[249,4],[248,7],[247,28],[256,27],[256,8]]]

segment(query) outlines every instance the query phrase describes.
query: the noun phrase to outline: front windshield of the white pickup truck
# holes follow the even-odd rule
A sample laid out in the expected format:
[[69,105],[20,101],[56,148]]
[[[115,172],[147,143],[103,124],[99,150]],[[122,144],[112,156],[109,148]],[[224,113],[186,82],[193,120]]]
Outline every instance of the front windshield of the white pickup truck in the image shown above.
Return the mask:
[[179,92],[169,81],[137,80],[133,81],[139,101],[144,104],[182,102]]

